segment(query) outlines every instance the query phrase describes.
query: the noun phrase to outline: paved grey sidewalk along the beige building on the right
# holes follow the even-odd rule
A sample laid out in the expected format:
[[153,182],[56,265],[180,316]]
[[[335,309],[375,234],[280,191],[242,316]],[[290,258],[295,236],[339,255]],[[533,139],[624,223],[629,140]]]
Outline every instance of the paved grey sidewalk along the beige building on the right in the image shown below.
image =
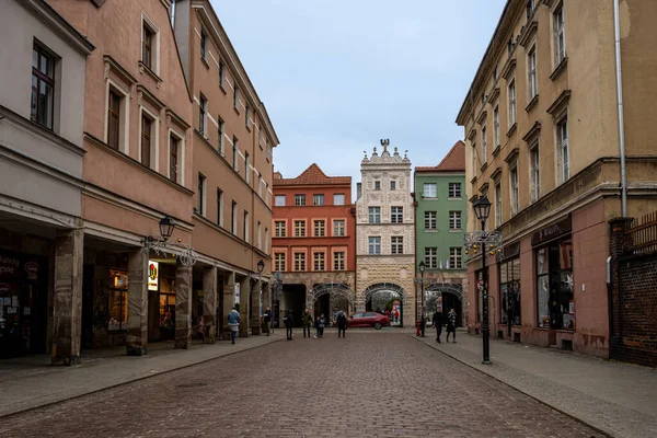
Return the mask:
[[457,344],[445,332],[442,344],[434,330],[426,336],[416,339],[612,437],[657,436],[655,369],[494,339],[493,364],[483,365],[481,336],[459,332]]

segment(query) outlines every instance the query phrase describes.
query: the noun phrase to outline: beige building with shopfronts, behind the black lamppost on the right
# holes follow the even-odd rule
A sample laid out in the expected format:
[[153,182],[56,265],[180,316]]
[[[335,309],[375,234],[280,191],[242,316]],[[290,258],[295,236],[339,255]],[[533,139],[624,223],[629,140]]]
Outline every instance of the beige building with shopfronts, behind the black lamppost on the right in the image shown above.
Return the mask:
[[[648,123],[657,115],[657,10],[642,0],[618,3],[616,66],[614,1],[508,1],[459,112],[468,197],[488,197],[487,228],[505,242],[502,253],[484,255],[493,336],[609,355],[608,220],[657,205]],[[477,229],[468,215],[468,230]],[[481,265],[481,252],[471,253],[472,332],[481,330],[482,293],[473,287]]]

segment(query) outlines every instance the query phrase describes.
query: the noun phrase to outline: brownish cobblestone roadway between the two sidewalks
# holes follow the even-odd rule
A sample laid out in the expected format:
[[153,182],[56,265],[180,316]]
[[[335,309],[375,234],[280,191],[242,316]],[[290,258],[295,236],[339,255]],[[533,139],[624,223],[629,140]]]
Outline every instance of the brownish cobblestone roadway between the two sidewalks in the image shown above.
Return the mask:
[[601,437],[400,333],[278,342],[0,419],[1,437]]

